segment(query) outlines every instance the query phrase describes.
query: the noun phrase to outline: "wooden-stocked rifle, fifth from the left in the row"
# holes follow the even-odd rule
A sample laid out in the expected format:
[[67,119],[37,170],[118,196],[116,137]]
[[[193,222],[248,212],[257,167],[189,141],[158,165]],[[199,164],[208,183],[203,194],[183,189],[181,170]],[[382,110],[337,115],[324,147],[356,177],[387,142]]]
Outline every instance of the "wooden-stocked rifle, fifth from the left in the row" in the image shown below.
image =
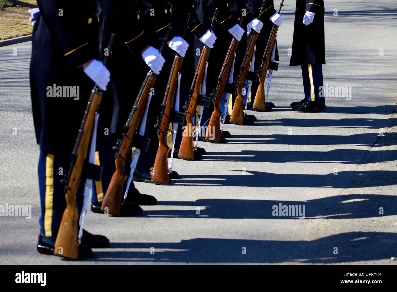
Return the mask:
[[[247,8],[248,8],[248,4],[246,3],[245,11],[247,11]],[[240,26],[243,23],[244,17],[245,15],[241,16]],[[225,91],[227,74],[229,73],[229,69],[233,61],[237,44],[239,44],[239,42],[233,37],[229,46],[229,50],[227,50],[227,54],[225,57],[224,64],[222,66],[222,70],[218,77],[218,84],[216,85],[216,88],[211,94],[214,101],[214,111],[211,114],[210,121],[208,122],[208,128],[205,133],[205,139],[210,142],[220,143],[221,137],[220,137],[219,123],[220,123],[220,118],[222,116],[222,112],[220,111],[219,104],[221,102],[222,95],[224,94]],[[212,138],[211,138],[211,134],[212,134]]]

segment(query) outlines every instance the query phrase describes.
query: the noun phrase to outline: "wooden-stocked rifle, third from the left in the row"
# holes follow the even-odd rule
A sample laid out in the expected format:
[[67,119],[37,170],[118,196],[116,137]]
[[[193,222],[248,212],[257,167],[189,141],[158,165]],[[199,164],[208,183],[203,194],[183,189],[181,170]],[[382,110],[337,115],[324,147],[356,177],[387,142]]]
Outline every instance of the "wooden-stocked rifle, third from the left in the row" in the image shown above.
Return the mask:
[[[183,28],[182,39],[185,37],[187,25],[189,24],[190,13],[187,14],[187,19]],[[154,160],[152,182],[156,184],[169,185],[170,175],[168,174],[168,152],[170,148],[167,145],[167,132],[170,123],[170,115],[175,95],[175,88],[177,87],[178,74],[181,70],[183,58],[179,54],[175,54],[172,64],[170,77],[166,93],[164,95],[163,103],[161,104],[160,118],[157,118],[157,124],[154,128],[157,129],[159,146]]]

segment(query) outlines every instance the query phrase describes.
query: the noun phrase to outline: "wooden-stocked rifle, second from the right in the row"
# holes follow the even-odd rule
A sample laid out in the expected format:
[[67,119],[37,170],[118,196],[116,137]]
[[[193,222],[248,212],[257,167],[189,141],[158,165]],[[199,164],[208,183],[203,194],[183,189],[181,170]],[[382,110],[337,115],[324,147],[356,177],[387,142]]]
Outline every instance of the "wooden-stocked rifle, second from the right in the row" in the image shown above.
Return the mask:
[[[260,19],[260,15],[265,8],[265,2],[266,1],[262,2],[262,7],[260,8],[258,19]],[[252,31],[253,33],[251,34],[247,51],[245,52],[244,60],[240,67],[239,76],[235,81],[235,84],[237,85],[237,97],[230,115],[230,122],[238,125],[243,124],[243,102],[245,98],[243,97],[242,91],[245,84],[245,79],[247,79],[248,67],[252,57],[252,53],[254,51],[256,39],[258,38],[258,33],[254,31],[254,29],[252,29]]]

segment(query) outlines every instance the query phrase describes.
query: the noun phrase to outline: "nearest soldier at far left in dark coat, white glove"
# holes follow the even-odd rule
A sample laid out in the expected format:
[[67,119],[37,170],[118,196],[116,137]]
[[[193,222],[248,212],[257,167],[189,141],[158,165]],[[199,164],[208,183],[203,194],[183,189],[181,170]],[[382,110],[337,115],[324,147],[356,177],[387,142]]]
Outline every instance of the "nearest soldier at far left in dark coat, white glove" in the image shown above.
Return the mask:
[[[70,155],[81,118],[96,83],[106,90],[110,73],[100,62],[96,1],[38,0],[30,67],[31,100],[37,143],[41,215],[37,250],[54,253],[54,244],[66,208],[60,180],[69,168]],[[53,96],[52,87],[72,87],[75,96]],[[106,97],[104,97],[106,98]],[[77,207],[83,203],[83,182]],[[76,231],[77,232],[77,231]],[[105,236],[83,232],[79,258],[93,256],[91,248],[106,247]]]

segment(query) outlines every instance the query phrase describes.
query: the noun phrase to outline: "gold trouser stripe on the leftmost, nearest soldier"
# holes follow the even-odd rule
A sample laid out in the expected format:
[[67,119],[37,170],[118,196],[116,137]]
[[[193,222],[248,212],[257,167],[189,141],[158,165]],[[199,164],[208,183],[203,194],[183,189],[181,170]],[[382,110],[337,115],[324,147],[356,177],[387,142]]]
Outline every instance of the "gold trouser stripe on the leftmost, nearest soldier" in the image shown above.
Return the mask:
[[44,210],[45,236],[52,236],[52,206],[54,198],[54,155],[48,154],[46,158],[46,198]]

